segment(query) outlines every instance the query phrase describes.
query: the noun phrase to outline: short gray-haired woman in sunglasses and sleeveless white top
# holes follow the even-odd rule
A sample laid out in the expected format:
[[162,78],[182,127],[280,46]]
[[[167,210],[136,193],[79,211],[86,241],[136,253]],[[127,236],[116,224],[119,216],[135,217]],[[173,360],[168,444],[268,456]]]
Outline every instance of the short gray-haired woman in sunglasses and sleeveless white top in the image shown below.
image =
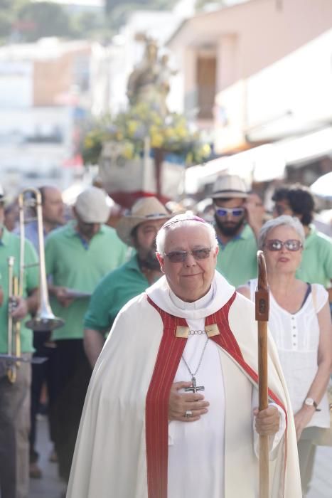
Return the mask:
[[[296,278],[301,265],[304,228],[297,218],[279,216],[262,226],[258,235],[269,282],[269,330],[279,352],[294,412],[301,485],[308,492],[314,466],[314,439],[328,428],[326,388],[332,362],[332,328],[328,292]],[[238,292],[255,300],[257,280]]]

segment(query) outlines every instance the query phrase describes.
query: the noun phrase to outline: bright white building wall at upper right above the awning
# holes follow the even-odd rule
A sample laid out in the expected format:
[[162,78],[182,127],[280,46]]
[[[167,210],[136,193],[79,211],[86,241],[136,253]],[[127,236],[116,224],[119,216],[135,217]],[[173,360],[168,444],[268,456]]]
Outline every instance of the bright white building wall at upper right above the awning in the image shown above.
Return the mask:
[[331,47],[332,29],[247,79],[247,126],[266,123],[252,138],[331,120]]

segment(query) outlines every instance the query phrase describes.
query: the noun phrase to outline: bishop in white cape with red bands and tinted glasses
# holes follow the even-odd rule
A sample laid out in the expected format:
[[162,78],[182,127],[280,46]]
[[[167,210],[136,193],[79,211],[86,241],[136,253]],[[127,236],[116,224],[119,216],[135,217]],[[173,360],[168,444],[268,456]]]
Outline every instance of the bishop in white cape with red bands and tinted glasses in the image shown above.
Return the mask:
[[258,411],[254,306],[215,272],[213,227],[175,216],[156,247],[165,276],[122,308],[97,360],[67,497],[257,498],[259,434],[269,498],[300,498],[277,352],[269,342],[274,403]]

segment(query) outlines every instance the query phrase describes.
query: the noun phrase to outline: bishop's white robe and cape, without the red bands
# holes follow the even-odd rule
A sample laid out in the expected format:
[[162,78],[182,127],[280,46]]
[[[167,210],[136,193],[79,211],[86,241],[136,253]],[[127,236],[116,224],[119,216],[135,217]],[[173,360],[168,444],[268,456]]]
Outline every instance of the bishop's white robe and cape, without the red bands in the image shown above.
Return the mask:
[[[190,329],[203,330],[205,317],[223,307],[234,288],[216,272],[208,295],[195,303],[178,300],[165,278],[146,292],[159,308],[186,318]],[[253,316],[252,303],[237,295],[230,307],[229,323],[251,366],[257,365]],[[68,498],[156,498],[149,496],[147,488],[144,413],[163,329],[160,315],[145,293],[119,313],[87,393]],[[183,356],[192,372],[200,362],[205,341],[205,334],[188,337]],[[288,414],[287,448],[282,438],[270,464],[270,496],[300,498],[288,394],[274,345],[269,346],[269,385]],[[190,380],[191,374],[181,360],[174,381]],[[196,422],[173,421],[168,425],[168,498],[256,498],[258,465],[252,427],[252,404],[257,404],[253,401],[257,398],[255,383],[210,340],[196,381],[198,386],[205,386],[203,394],[210,406]]]

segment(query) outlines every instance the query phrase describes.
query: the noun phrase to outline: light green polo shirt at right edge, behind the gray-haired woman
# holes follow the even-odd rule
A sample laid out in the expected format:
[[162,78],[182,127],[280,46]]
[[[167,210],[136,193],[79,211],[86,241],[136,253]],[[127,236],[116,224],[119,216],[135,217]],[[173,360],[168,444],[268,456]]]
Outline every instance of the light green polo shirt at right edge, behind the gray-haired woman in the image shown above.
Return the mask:
[[318,232],[310,225],[309,235],[304,241],[304,250],[296,277],[310,284],[331,287],[332,279],[332,239]]

